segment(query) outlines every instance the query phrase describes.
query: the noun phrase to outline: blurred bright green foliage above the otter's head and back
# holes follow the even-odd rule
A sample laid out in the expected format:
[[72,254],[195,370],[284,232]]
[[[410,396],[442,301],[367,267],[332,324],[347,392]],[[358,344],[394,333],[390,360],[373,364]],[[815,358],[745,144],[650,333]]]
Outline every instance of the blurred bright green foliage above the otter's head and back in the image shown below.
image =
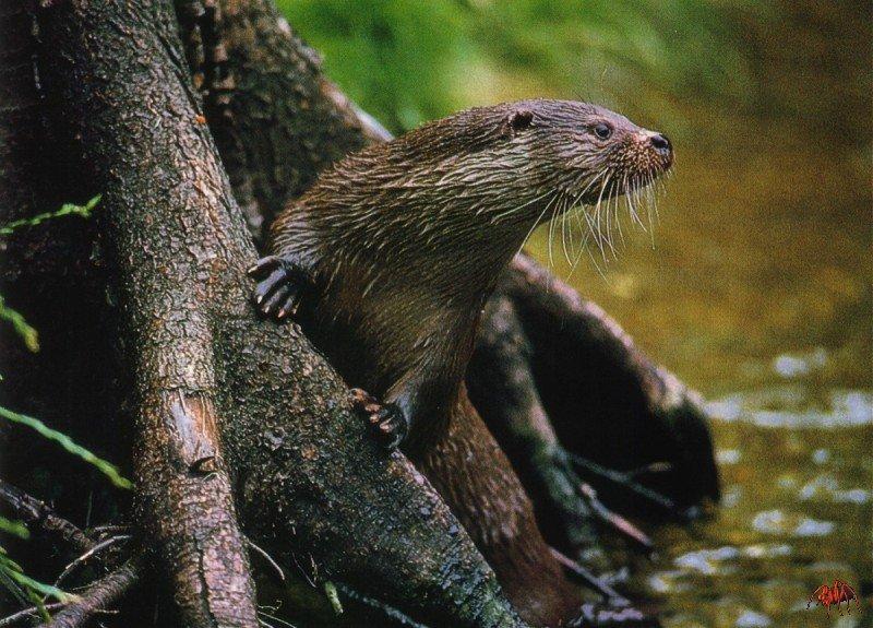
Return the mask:
[[[393,131],[489,102],[754,99],[743,16],[668,0],[280,0],[325,69]],[[757,8],[755,8],[757,11]],[[649,103],[649,107],[651,104]],[[669,114],[669,111],[668,111]],[[677,116],[678,117],[678,116]]]

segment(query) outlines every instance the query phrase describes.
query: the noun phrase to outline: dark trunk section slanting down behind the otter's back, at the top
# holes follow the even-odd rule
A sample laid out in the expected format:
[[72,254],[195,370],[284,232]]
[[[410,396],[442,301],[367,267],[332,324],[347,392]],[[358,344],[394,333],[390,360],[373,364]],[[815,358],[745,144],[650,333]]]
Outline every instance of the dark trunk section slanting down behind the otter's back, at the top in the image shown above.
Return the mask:
[[[255,241],[330,163],[390,134],[321,72],[267,0],[180,0],[205,114]],[[216,49],[220,61],[210,61]],[[230,87],[228,87],[230,86]]]

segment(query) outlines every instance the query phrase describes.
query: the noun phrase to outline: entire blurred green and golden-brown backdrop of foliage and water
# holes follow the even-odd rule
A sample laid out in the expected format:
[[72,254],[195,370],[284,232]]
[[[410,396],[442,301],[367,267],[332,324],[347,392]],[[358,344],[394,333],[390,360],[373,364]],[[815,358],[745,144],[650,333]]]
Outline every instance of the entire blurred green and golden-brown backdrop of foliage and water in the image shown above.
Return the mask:
[[669,627],[870,623],[805,602],[834,578],[873,589],[871,4],[279,4],[394,132],[545,96],[670,135],[654,234],[625,221],[618,254],[572,275],[547,230],[530,242],[713,400],[719,514],[613,576]]

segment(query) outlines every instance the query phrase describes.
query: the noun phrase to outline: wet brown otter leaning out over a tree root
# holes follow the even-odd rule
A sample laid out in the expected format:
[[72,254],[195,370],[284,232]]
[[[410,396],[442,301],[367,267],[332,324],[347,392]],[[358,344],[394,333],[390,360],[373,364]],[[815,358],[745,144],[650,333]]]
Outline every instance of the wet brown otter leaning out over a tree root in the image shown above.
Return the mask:
[[431,479],[533,624],[567,620],[578,599],[467,399],[477,325],[537,225],[641,189],[672,159],[663,134],[587,103],[469,109],[328,167],[249,271],[259,310],[303,327],[356,387],[375,437]]

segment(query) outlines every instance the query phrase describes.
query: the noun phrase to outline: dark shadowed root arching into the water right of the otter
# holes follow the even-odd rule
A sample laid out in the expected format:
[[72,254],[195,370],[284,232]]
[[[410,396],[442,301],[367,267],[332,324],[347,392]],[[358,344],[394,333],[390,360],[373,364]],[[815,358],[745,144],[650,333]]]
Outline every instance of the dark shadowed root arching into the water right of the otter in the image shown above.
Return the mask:
[[499,292],[512,299],[534,347],[537,390],[565,449],[623,470],[666,462],[669,471],[646,484],[684,506],[718,500],[713,439],[696,392],[530,258],[516,257]]

